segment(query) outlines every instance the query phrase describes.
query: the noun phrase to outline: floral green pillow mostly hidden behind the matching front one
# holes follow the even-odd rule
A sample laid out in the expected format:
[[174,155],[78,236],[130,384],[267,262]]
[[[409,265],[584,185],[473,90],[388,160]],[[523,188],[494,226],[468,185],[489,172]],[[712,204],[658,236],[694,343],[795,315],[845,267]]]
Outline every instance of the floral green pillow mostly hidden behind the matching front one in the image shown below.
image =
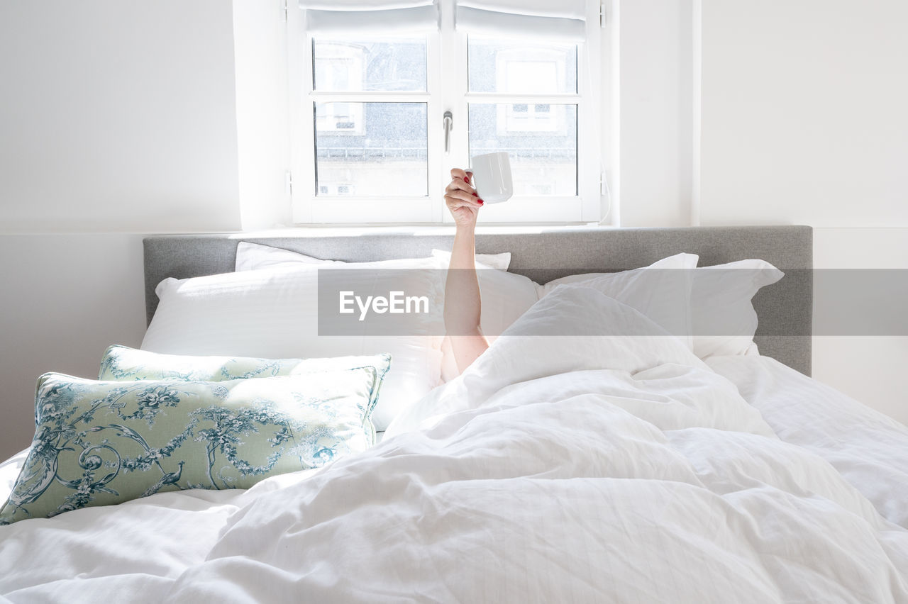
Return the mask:
[[[250,377],[299,375],[353,367],[374,367],[383,380],[391,356],[334,356],[330,358],[253,358],[251,356],[164,355],[114,345],[104,351],[99,380],[195,380],[221,382]],[[372,406],[378,402],[375,389]]]

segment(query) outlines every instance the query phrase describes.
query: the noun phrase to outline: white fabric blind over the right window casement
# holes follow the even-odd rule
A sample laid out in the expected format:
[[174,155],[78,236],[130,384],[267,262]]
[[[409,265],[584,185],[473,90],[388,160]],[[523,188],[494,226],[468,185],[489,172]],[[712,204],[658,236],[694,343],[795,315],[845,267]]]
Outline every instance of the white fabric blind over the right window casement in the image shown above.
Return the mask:
[[457,0],[457,28],[579,42],[586,37],[585,5],[585,0]]

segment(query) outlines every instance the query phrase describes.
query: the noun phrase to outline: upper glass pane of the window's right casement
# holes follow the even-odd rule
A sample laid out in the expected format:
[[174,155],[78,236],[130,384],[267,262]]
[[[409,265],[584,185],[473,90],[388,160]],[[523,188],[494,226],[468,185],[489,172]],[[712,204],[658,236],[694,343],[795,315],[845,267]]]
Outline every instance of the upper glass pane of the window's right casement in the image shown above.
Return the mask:
[[577,93],[577,44],[471,35],[467,49],[471,93]]

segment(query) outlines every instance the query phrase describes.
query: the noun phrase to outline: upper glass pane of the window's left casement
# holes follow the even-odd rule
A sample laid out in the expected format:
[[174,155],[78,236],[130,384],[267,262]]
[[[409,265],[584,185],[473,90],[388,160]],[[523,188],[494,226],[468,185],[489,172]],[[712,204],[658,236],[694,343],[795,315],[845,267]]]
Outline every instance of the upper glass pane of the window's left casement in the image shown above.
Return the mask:
[[312,41],[313,90],[425,91],[426,38]]

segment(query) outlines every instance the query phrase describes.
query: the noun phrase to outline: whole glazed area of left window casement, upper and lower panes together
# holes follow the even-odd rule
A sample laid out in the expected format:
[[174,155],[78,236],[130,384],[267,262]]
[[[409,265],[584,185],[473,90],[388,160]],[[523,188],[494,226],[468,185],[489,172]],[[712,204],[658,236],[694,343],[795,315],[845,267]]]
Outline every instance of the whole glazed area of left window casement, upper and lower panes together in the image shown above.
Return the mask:
[[[316,198],[428,195],[426,47],[426,36],[312,36]],[[375,95],[390,92],[402,96]]]

